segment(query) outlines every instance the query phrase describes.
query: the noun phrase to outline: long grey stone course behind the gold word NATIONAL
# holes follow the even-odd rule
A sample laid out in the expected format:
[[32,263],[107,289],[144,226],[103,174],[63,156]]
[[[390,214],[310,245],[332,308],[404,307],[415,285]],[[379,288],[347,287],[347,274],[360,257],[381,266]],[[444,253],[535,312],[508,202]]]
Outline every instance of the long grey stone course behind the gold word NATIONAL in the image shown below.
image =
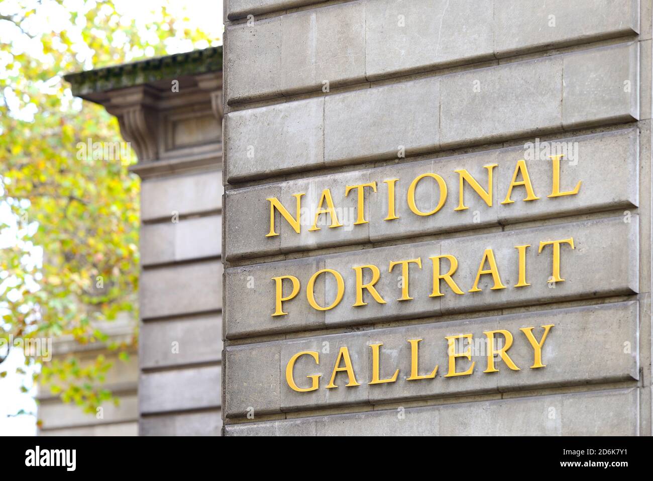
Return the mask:
[[[225,196],[226,208],[229,209],[232,205],[236,212],[227,219],[227,245],[230,246],[227,259],[362,244],[370,240],[392,240],[470,227],[510,224],[521,220],[635,207],[638,203],[637,142],[637,129],[551,142],[533,139],[525,146],[234,189]],[[552,193],[554,178],[553,163],[547,157],[555,155],[556,152],[565,154],[560,161],[560,189],[572,191],[577,183],[582,181],[577,195],[547,198],[547,195]],[[517,161],[524,158],[535,194],[540,198],[524,202],[524,188],[517,187],[511,196],[515,203],[502,204]],[[492,176],[492,207],[488,207],[466,182],[464,201],[468,209],[454,210],[460,197],[460,180],[455,171],[465,169],[486,190],[488,171],[484,166],[494,163],[498,164],[498,167],[494,169]],[[447,200],[441,210],[432,216],[414,214],[406,201],[411,182],[424,173],[437,173],[447,184]],[[399,179],[394,183],[394,208],[398,218],[386,221],[384,219],[389,210],[389,188],[384,181],[395,178]],[[345,188],[369,182],[376,182],[377,191],[365,188],[364,218],[368,224],[355,225],[357,191],[350,191],[345,197]],[[328,228],[330,218],[323,214],[319,219],[321,229],[310,231],[315,220],[317,203],[321,193],[327,188],[334,198],[338,222],[343,224],[343,227]],[[610,192],[610,195],[605,195],[607,192]],[[301,198],[300,234],[276,212],[274,230],[279,235],[266,237],[270,231],[270,202],[266,199],[279,199],[290,214],[296,216],[296,198],[293,195],[298,193],[304,193]],[[439,195],[435,181],[426,178],[419,182],[415,191],[417,206],[424,211],[431,210],[438,205]],[[244,217],[247,222],[242,222]]]

